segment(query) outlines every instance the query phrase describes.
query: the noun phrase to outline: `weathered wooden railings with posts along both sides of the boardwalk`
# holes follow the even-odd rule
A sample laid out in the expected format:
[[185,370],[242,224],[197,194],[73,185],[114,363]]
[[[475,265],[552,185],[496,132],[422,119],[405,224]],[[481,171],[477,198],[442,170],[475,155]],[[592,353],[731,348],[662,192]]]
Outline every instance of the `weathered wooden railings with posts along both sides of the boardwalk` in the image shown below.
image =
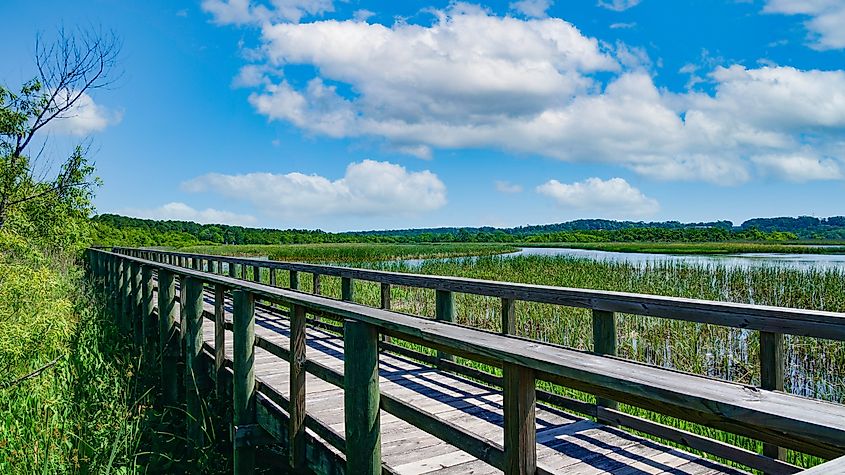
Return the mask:
[[[534,473],[536,447],[533,420],[537,400],[766,473],[800,471],[782,460],[784,448],[825,459],[835,459],[845,453],[845,406],[782,392],[783,334],[845,340],[845,314],[144,249],[91,250],[89,255],[92,274],[102,283],[114,314],[122,317],[121,322],[127,331],[134,330],[139,345],[146,341],[147,348],[151,345],[158,348],[162,368],[175,368],[173,362],[178,358],[181,338],[185,342],[186,374],[202,372],[199,361],[206,351],[214,361],[211,374],[217,381],[218,390],[221,390],[221,381],[232,380],[236,473],[250,471],[254,463],[254,447],[262,440],[264,431],[288,445],[290,466],[321,467],[326,456],[321,456],[318,451],[306,450],[313,443],[305,432],[306,427],[346,454],[346,473],[380,472],[379,409],[506,473]],[[260,280],[261,269],[269,269],[269,285],[247,281],[245,269],[250,268],[253,269],[254,280]],[[290,289],[276,286],[278,271],[290,273]],[[224,272],[227,275],[222,275]],[[298,291],[301,273],[312,275],[313,294]],[[158,282],[157,307],[152,302],[153,274],[157,275]],[[174,324],[176,276],[182,294],[181,328],[176,328]],[[319,295],[320,276],[341,279],[341,300]],[[356,280],[381,284],[382,308],[352,303]],[[390,311],[392,285],[434,289],[437,321]],[[204,286],[214,290],[214,315],[203,314],[201,298]],[[452,323],[456,292],[500,298],[502,334]],[[231,325],[234,358],[231,364],[223,357],[223,334],[227,329],[223,319],[223,299],[226,293],[231,293],[234,303]],[[256,304],[257,300],[288,308],[290,349],[255,335],[254,309],[256,305],[261,305]],[[511,335],[516,301],[591,309],[595,351],[581,352]],[[762,387],[615,358],[616,313],[759,331]],[[198,322],[204,316],[215,320],[213,354],[208,347],[203,349],[199,333]],[[313,318],[315,316],[319,318]],[[327,323],[326,320],[336,323]],[[345,371],[342,375],[305,358],[306,325],[322,326],[343,335]],[[433,348],[438,351],[437,356],[379,341],[380,334]],[[153,341],[153,335],[158,336],[158,342]],[[290,362],[289,399],[275,393],[272,388],[256,387],[252,368],[256,346]],[[380,395],[377,383],[379,347],[501,387],[504,392],[504,446],[433,418],[388,395]],[[463,366],[452,361],[450,355],[499,367],[503,376]],[[305,411],[305,372],[344,388],[347,407],[345,437],[309,418]],[[192,379],[194,377],[186,379],[189,414],[198,414],[192,411],[198,410],[195,408],[196,398],[201,393],[201,385]],[[537,390],[537,381],[594,394],[597,403],[589,404]],[[176,376],[163,371],[162,392],[166,400],[175,400],[175,384]],[[617,403],[760,440],[764,442],[764,453],[758,454],[629,415],[620,411]],[[199,416],[194,420],[199,420]],[[372,430],[373,427],[376,430]],[[196,443],[202,434],[189,425],[188,437]],[[829,463],[841,464],[842,460]]]

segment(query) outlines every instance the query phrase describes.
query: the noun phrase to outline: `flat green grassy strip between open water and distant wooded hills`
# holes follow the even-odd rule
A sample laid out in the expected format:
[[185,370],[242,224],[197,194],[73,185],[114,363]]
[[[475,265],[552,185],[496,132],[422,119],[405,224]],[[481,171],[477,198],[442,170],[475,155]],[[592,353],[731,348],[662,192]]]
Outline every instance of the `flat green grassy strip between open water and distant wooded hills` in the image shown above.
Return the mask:
[[591,251],[639,252],[654,254],[845,254],[845,246],[808,243],[760,242],[561,242],[525,243],[525,247],[565,247]]

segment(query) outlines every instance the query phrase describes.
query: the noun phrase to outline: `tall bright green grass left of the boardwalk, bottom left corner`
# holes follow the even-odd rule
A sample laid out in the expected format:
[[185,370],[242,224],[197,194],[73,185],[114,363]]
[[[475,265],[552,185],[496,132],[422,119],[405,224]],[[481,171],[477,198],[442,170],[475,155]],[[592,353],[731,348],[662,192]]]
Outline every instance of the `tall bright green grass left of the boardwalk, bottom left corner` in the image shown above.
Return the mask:
[[133,467],[142,395],[125,339],[71,257],[0,239],[0,472]]

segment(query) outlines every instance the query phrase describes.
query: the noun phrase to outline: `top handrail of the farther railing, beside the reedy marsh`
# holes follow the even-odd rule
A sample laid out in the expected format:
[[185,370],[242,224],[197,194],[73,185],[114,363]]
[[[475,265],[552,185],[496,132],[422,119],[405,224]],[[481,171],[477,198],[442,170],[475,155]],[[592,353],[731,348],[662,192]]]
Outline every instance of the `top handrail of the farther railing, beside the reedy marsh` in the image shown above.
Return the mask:
[[[118,251],[132,248],[114,248]],[[845,341],[845,313],[721,302],[661,295],[579,289],[513,282],[389,272],[352,267],[271,261],[255,258],[149,250],[163,255],[199,258],[270,269],[310,272],[383,284],[556,304],[607,312],[707,323],[764,332]]]

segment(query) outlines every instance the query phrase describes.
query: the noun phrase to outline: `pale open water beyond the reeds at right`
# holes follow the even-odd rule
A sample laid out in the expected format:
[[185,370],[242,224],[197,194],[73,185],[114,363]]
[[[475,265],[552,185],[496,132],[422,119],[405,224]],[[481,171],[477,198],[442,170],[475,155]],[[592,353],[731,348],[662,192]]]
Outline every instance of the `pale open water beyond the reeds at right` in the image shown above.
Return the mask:
[[[570,249],[563,247],[524,247],[517,252],[502,254],[502,257],[516,256],[565,256],[595,261],[628,262],[645,267],[655,263],[686,263],[699,266],[722,267],[786,267],[792,269],[842,270],[845,271],[845,254],[717,254],[717,255],[689,255],[689,254],[655,254],[640,252],[611,252],[593,251],[586,249]],[[475,259],[476,257],[458,257],[450,259]],[[411,266],[421,265],[430,259],[401,259]],[[438,260],[449,260],[438,259]]]

